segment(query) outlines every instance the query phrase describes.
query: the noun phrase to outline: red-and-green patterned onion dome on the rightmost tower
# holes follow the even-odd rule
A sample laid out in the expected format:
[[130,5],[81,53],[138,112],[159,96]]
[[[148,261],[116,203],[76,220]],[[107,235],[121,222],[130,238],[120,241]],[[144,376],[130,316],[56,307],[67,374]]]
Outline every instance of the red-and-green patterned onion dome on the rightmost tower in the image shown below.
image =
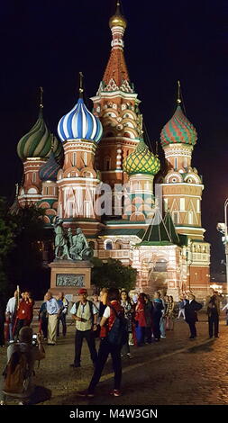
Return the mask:
[[173,117],[161,130],[160,140],[162,147],[177,143],[194,146],[196,144],[196,139],[196,129],[193,124],[188,121],[180,105],[178,105]]

